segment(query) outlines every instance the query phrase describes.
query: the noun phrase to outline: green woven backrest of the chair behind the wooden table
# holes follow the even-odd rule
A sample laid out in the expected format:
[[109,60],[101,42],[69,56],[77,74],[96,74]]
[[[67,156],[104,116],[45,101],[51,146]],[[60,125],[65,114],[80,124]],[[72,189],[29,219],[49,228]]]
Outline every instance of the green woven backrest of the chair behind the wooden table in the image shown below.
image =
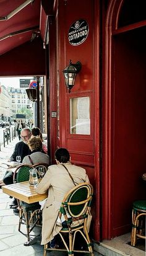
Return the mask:
[[17,167],[13,175],[13,182],[25,182],[29,180],[30,169],[32,169],[32,166],[29,166],[28,164],[22,164],[21,166]]

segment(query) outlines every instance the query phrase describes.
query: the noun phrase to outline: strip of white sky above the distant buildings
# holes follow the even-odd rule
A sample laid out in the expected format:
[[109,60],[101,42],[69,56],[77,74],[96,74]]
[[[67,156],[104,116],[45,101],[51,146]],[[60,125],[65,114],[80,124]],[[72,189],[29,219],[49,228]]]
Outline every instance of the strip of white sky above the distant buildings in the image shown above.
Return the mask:
[[32,76],[23,76],[23,77],[0,77],[1,86],[6,87],[20,87],[20,79],[32,79]]

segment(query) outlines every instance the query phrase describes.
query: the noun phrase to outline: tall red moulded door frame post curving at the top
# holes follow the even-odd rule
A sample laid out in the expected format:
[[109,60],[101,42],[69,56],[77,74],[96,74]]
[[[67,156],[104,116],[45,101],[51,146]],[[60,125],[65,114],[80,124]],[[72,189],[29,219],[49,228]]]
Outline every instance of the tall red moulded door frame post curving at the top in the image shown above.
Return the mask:
[[106,14],[105,24],[105,90],[103,113],[103,239],[113,236],[113,69],[112,69],[112,32],[117,29],[119,10],[123,0],[111,0]]

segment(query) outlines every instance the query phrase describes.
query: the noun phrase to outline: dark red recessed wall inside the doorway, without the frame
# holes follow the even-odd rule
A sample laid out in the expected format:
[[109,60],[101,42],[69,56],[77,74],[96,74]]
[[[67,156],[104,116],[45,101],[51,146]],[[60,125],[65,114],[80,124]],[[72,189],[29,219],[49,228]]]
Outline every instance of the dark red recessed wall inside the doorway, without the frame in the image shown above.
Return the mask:
[[131,231],[134,200],[145,198],[145,29],[113,38],[113,236]]

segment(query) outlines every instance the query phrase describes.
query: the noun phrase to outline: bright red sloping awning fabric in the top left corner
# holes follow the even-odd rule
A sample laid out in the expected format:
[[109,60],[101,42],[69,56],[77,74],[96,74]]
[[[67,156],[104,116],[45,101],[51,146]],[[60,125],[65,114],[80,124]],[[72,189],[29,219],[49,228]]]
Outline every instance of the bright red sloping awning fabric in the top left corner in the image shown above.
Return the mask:
[[[17,7],[23,4],[24,0],[3,0],[0,3],[0,17],[9,15]],[[39,29],[40,23],[40,0],[28,4],[20,12],[17,12],[11,19],[0,20],[0,55],[27,42],[32,37],[35,28]],[[23,32],[33,28],[31,32]],[[20,31],[19,35],[14,35]],[[23,33],[22,33],[23,32]],[[6,37],[5,39],[2,39]]]

